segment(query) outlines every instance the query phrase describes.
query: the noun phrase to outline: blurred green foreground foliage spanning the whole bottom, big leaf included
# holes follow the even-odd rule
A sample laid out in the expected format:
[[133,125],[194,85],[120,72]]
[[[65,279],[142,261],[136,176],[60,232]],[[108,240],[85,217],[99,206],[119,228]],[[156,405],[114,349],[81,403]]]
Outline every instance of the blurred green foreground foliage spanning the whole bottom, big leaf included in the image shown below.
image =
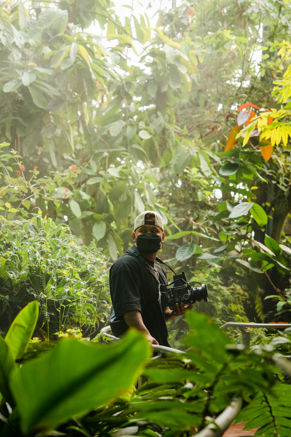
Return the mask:
[[[31,313],[28,324],[33,319]],[[10,414],[3,406],[1,435],[32,437],[53,429],[72,437],[195,435],[212,422],[209,416],[217,416],[238,395],[249,404],[239,416],[249,421],[248,427],[261,427],[266,437],[279,427],[284,433],[290,415],[288,402],[282,409],[281,399],[289,399],[290,386],[275,383],[270,362],[273,358],[287,374],[291,368],[284,357],[272,356],[276,342],[249,352],[229,344],[226,334],[204,315],[188,312],[187,319],[189,351],[182,359],[147,362],[147,381],[130,392],[149,352],[140,333],[129,331],[111,345],[63,339],[19,368],[9,344],[0,339],[1,350],[6,344],[6,353],[0,354],[0,388],[14,409]]]

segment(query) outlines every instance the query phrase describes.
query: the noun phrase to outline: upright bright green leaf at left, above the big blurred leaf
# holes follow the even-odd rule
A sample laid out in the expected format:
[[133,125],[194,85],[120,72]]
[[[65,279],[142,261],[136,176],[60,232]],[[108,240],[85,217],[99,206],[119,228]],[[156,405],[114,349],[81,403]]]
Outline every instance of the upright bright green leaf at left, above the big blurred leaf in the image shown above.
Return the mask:
[[27,304],[17,314],[5,337],[14,360],[19,360],[28,346],[38,321],[38,302]]

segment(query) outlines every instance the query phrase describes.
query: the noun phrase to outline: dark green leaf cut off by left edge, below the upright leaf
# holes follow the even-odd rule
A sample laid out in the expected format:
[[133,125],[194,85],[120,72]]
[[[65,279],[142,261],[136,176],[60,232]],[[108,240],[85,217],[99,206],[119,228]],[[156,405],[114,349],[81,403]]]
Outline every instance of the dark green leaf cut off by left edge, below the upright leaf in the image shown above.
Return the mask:
[[3,398],[6,399],[11,406],[14,403],[9,388],[9,377],[14,367],[16,367],[16,364],[9,346],[3,337],[0,336],[0,404],[1,395],[3,395]]

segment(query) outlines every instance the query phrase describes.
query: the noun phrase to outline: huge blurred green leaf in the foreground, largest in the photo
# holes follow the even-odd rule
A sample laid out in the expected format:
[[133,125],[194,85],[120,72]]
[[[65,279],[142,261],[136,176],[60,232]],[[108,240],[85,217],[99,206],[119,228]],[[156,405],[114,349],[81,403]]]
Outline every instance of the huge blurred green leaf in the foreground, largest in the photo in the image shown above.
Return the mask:
[[108,346],[61,341],[12,375],[11,389],[23,432],[32,427],[53,429],[126,392],[148,354],[147,340],[131,330],[123,340]]

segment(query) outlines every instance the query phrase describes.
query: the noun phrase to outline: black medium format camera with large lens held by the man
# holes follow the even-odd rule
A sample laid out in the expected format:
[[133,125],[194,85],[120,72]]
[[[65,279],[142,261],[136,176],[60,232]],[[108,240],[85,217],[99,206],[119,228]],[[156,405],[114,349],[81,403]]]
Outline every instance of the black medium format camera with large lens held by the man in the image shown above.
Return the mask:
[[201,284],[201,287],[191,287],[188,284],[185,272],[182,271],[181,274],[174,274],[174,286],[168,288],[166,291],[166,296],[168,299],[168,305],[173,308],[176,307],[176,303],[181,305],[189,305],[195,302],[208,302],[207,288],[205,284]]

